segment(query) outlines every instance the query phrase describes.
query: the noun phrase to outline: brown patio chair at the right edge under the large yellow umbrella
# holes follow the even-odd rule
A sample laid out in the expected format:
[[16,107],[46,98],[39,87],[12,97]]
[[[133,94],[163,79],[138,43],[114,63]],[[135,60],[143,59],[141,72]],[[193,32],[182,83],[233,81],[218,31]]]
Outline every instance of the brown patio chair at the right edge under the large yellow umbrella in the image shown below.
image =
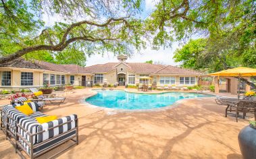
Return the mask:
[[256,102],[249,100],[239,100],[239,102],[233,106],[236,109],[236,122],[238,122],[238,113],[243,113],[242,118],[245,119],[247,113],[254,114],[254,120],[256,121]]

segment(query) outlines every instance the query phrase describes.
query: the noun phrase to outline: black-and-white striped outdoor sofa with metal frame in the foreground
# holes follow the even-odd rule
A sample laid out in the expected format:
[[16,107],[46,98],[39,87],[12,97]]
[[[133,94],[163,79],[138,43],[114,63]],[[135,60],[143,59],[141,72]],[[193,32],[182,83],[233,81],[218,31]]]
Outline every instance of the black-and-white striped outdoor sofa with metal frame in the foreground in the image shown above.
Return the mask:
[[[36,121],[35,117],[47,115],[39,111],[38,104],[34,103],[30,106],[34,111],[32,115],[24,115],[14,108],[15,106],[19,105],[14,104],[3,107],[1,111],[1,129],[22,158],[25,158],[22,151],[30,158],[36,158],[66,141],[74,141],[68,148],[78,144],[77,115],[69,115],[41,124]],[[64,150],[58,151],[57,154]]]

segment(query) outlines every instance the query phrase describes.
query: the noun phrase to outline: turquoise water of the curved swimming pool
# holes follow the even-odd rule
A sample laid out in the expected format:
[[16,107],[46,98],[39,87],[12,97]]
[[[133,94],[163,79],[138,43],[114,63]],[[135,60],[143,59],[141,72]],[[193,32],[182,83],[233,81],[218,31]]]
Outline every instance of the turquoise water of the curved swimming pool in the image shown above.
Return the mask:
[[105,108],[117,109],[151,109],[170,106],[185,98],[211,97],[208,94],[188,92],[168,92],[161,94],[138,94],[123,90],[96,90],[95,96],[86,99],[86,102]]

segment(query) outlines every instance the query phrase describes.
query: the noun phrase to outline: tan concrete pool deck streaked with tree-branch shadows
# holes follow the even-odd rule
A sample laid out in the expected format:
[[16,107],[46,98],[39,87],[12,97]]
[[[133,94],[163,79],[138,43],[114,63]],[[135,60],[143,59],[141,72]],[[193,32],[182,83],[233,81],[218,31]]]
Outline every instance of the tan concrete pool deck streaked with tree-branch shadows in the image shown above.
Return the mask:
[[[43,108],[47,115],[79,118],[79,145],[57,158],[242,158],[237,136],[253,118],[236,123],[232,115],[224,117],[226,107],[215,104],[214,97],[180,100],[158,111],[117,112],[81,102],[93,94],[90,88],[74,90],[60,106]],[[0,158],[19,158],[2,131]]]

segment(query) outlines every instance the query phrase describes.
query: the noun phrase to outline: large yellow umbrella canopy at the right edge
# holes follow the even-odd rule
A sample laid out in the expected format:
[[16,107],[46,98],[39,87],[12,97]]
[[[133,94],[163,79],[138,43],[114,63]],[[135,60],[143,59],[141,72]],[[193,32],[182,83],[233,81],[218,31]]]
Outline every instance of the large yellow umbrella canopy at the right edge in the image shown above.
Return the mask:
[[227,69],[224,71],[218,71],[215,73],[210,73],[209,75],[215,76],[256,76],[256,69],[247,68],[247,67],[236,67],[234,69]]

